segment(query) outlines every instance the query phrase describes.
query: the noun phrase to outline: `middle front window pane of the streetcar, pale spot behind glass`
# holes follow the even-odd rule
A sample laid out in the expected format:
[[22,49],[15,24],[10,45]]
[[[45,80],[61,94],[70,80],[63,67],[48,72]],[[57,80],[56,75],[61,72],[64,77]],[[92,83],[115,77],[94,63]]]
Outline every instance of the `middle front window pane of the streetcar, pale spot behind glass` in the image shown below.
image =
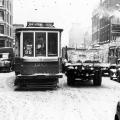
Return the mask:
[[35,33],[35,56],[46,56],[46,33]]

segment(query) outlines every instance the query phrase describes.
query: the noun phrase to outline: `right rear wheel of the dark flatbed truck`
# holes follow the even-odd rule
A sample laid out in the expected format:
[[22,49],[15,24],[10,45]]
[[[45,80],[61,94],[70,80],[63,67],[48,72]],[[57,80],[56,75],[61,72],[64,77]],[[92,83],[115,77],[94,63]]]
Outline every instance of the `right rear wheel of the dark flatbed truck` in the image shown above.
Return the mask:
[[102,83],[102,76],[101,76],[101,72],[100,71],[96,71],[94,78],[93,78],[93,84],[95,86],[101,86]]

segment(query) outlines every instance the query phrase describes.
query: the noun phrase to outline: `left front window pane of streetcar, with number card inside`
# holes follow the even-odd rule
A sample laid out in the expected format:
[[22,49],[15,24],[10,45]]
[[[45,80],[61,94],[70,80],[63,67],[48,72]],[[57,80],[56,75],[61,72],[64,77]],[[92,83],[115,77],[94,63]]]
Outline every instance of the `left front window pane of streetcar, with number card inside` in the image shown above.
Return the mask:
[[23,56],[33,56],[33,33],[23,33]]

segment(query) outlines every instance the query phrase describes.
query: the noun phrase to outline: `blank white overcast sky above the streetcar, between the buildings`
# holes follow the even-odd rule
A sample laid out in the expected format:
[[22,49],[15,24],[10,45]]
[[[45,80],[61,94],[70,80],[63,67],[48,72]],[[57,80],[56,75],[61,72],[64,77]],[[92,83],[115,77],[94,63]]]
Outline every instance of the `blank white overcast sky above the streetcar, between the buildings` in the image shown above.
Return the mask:
[[[13,23],[54,22],[67,33],[72,23],[91,25],[93,8],[100,0],[13,0]],[[64,39],[66,39],[67,34]]]

